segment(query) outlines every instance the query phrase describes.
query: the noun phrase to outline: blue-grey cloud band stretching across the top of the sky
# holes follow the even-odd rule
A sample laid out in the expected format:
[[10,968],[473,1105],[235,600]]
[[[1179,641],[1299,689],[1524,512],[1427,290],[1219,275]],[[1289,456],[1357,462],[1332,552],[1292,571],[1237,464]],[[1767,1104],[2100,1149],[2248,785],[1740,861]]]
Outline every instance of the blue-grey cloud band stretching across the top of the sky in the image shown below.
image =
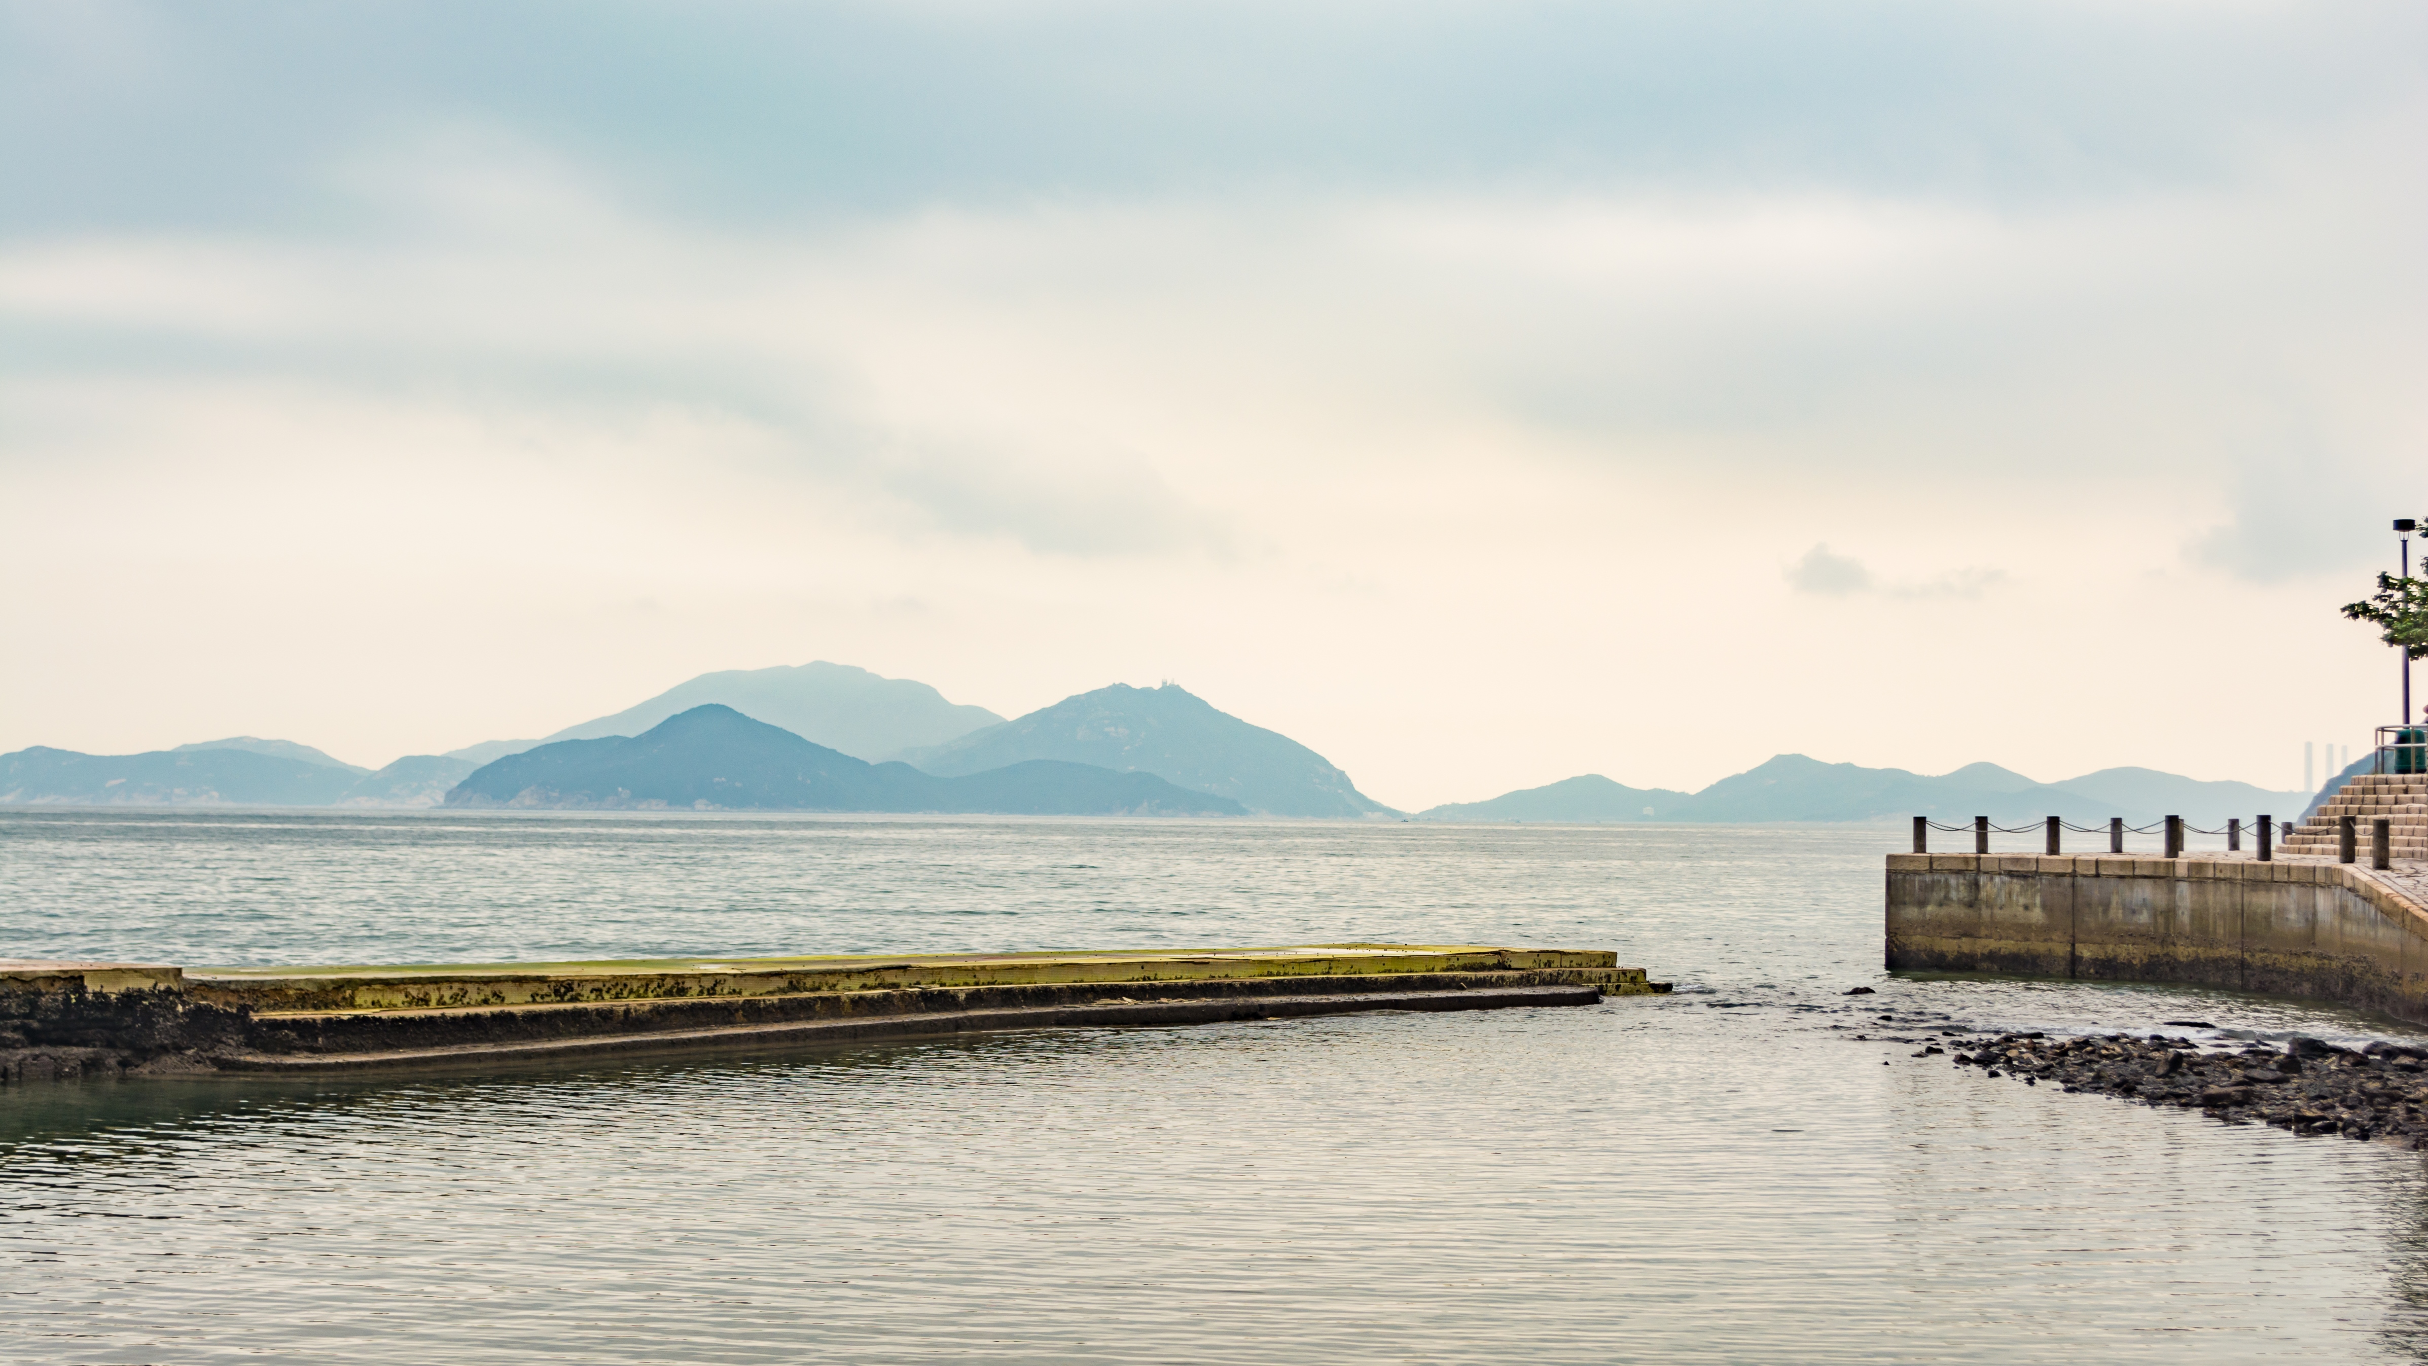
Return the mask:
[[342,218],[333,155],[449,116],[724,223],[1272,184],[2010,206],[2214,182],[2409,90],[2423,27],[2389,0],[19,2],[0,167],[44,194],[0,228]]

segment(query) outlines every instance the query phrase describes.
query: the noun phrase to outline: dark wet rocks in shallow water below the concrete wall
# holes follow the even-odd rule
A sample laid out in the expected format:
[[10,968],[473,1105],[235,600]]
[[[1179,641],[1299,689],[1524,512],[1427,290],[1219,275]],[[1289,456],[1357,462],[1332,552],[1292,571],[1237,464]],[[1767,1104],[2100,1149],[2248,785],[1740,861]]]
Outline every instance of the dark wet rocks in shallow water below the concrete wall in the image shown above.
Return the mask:
[[[1942,1053],[1925,1046],[1916,1058]],[[1957,1053],[1957,1068],[2025,1085],[2057,1082],[2069,1092],[2103,1092],[2144,1104],[2202,1109],[2229,1123],[2265,1121],[2294,1133],[2392,1138],[2428,1148],[2428,1048],[2370,1043],[2338,1048],[2292,1038],[2280,1053],[2202,1053],[2190,1038],[2093,1034],[2049,1038],[2001,1034]]]

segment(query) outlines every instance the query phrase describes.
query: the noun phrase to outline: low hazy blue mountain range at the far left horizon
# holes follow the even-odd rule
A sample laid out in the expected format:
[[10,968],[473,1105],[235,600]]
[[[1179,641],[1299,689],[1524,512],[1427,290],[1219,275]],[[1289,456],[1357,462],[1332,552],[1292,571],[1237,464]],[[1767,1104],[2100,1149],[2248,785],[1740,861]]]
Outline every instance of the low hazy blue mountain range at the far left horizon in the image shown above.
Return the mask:
[[0,755],[0,803],[328,806],[362,769],[255,750],[78,755],[34,745]]

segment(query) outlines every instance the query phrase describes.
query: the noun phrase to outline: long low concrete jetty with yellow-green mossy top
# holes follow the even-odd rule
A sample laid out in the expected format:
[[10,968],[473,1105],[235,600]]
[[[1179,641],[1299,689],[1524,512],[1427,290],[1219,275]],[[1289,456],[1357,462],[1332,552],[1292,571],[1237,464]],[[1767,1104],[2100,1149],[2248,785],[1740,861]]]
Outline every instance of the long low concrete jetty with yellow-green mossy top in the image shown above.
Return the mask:
[[0,961],[0,1082],[1593,1004],[1666,990],[1607,951],[1474,944],[337,968]]

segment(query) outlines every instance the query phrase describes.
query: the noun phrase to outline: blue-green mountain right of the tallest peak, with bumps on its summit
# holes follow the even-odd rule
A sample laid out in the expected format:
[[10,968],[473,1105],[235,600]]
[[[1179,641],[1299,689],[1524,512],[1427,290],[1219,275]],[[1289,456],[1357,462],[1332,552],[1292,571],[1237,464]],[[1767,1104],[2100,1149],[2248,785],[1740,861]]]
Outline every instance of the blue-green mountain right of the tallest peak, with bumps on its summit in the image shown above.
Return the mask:
[[1017,721],[910,750],[903,759],[944,776],[1061,759],[1156,774],[1265,815],[1396,815],[1357,791],[1323,755],[1214,711],[1178,684],[1083,691]]

